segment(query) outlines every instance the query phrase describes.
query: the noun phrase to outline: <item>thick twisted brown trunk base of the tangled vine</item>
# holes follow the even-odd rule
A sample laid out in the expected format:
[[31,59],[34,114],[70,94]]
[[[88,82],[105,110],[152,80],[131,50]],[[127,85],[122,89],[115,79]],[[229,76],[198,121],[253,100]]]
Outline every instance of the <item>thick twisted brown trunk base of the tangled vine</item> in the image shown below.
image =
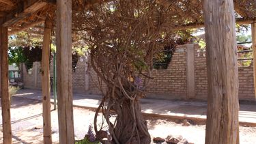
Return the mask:
[[122,104],[116,104],[114,110],[118,115],[114,132],[119,143],[150,143],[150,134],[139,101],[125,100]]

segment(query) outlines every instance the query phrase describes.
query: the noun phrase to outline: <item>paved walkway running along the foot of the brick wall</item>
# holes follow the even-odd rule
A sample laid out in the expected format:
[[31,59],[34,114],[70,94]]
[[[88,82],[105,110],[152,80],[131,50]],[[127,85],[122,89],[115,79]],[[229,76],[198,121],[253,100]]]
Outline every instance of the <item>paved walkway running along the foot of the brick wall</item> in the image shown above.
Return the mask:
[[[20,89],[14,96],[42,100],[42,91],[35,89]],[[73,105],[87,109],[96,109],[101,96],[74,93]],[[53,102],[53,96],[51,99]],[[190,119],[205,123],[207,102],[182,100],[142,99],[143,115],[169,119]],[[256,126],[256,104],[240,104],[239,121],[241,125]]]

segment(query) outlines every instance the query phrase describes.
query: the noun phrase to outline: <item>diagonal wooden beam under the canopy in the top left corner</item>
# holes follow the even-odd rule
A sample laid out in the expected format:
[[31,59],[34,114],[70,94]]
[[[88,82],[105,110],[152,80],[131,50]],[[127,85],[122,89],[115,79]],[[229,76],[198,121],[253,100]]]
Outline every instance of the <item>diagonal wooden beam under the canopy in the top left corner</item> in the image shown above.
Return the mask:
[[3,27],[11,26],[19,20],[23,20],[24,18],[31,16],[34,12],[37,12],[45,5],[47,5],[47,2],[40,0],[31,0],[27,1],[27,3],[20,4],[14,12],[5,16],[5,20],[1,25],[3,25]]

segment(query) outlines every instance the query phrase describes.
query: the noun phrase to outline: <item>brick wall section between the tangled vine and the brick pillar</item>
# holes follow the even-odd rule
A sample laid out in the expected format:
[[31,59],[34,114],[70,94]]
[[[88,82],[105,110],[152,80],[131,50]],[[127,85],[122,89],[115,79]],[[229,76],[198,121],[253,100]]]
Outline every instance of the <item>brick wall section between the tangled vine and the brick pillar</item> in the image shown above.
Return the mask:
[[153,70],[152,77],[154,79],[147,88],[147,97],[186,98],[186,46],[178,46],[167,70]]

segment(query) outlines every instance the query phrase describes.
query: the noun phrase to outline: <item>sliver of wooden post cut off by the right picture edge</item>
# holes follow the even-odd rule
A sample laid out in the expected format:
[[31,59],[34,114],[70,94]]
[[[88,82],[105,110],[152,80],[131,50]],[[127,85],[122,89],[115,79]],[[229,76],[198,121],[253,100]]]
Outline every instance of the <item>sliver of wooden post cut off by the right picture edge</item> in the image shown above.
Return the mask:
[[253,42],[253,80],[254,93],[256,98],[256,22],[251,24],[252,42]]

